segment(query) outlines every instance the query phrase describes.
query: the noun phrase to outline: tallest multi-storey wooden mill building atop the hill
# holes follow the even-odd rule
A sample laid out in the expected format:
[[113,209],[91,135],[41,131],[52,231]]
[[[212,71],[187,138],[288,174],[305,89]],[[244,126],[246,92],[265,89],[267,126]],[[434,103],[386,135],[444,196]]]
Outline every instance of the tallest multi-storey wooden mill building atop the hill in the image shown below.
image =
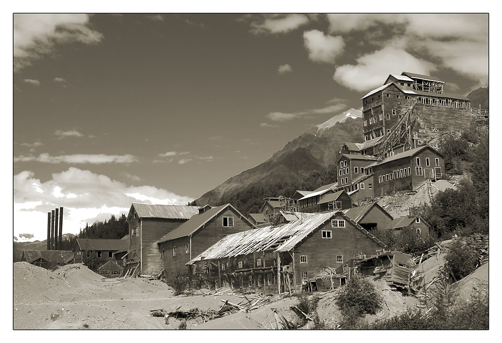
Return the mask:
[[403,72],[389,75],[382,87],[361,98],[364,140],[390,133],[412,104],[420,118],[412,128],[413,139],[425,141],[431,135],[470,127],[470,101],[456,93],[444,92],[444,82],[436,77]]

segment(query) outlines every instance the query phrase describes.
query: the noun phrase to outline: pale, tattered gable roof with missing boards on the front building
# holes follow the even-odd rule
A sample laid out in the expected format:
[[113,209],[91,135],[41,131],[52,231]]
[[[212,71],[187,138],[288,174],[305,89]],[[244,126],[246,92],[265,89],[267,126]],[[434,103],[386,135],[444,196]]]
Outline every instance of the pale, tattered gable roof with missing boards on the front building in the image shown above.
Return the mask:
[[374,240],[381,246],[385,246],[384,243],[364,230],[359,224],[355,223],[343,212],[333,211],[326,213],[313,213],[309,217],[305,217],[302,220],[295,220],[283,225],[267,226],[255,230],[230,234],[216,242],[214,245],[186,264],[190,265],[203,259],[233,257],[265,250],[289,251],[305,237],[307,237],[312,231],[337,214],[340,214],[346,220],[351,222],[357,229],[363,231],[368,238]]

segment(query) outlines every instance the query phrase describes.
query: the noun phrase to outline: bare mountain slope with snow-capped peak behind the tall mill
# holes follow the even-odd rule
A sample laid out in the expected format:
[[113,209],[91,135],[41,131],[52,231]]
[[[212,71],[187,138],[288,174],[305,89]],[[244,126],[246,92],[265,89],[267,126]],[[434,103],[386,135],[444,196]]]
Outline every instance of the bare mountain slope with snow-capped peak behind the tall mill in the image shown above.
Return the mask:
[[350,109],[307,129],[267,161],[229,178],[193,203],[218,205],[252,186],[301,181],[314,170],[326,171],[334,165],[343,142],[363,141],[362,112]]

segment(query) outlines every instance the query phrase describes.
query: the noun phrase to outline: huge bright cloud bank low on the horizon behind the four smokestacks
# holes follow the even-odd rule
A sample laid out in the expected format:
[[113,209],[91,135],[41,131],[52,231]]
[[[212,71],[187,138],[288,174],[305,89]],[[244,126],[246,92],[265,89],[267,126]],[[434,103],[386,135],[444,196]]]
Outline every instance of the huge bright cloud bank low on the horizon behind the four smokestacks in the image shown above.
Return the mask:
[[[92,224],[128,212],[132,202],[185,205],[192,198],[153,186],[128,186],[106,175],[70,167],[41,182],[31,171],[14,175],[14,232],[33,228],[35,239],[47,236],[47,212],[64,207],[64,233],[78,233]],[[45,228],[44,228],[45,227]]]

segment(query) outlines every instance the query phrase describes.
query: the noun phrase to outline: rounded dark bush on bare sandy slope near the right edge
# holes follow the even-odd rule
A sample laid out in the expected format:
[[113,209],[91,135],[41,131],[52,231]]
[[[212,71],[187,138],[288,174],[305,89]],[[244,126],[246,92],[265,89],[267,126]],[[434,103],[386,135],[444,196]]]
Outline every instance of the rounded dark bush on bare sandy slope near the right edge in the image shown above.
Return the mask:
[[445,260],[453,276],[460,280],[476,269],[479,256],[475,247],[456,239],[450,244]]

